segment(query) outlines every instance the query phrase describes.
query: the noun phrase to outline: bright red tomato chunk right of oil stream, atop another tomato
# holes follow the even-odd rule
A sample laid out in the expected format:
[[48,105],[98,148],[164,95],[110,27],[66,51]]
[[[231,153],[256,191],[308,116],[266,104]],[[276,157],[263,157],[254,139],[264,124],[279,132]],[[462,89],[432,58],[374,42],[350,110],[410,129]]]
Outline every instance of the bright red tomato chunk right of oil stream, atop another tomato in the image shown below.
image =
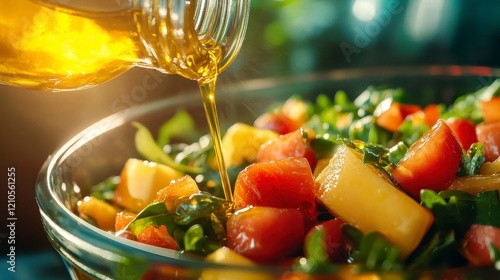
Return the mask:
[[314,178],[305,158],[287,158],[249,165],[234,187],[237,209],[250,205],[294,208],[305,218],[316,218]]

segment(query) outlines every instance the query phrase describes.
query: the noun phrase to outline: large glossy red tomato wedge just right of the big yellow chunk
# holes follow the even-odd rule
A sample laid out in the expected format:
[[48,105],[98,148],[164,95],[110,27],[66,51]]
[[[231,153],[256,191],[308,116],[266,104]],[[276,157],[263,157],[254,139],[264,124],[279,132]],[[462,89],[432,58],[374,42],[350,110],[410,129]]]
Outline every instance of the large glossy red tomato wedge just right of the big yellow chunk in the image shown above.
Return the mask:
[[462,147],[442,119],[408,150],[392,170],[394,179],[415,199],[422,189],[445,190],[455,179]]

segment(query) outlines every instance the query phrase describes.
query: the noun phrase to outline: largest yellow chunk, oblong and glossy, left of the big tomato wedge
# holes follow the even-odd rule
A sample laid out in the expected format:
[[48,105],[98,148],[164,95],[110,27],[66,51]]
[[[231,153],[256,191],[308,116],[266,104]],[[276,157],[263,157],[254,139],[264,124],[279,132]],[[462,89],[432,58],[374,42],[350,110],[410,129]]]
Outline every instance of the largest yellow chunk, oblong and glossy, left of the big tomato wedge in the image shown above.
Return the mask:
[[316,182],[316,196],[332,214],[365,234],[383,234],[403,258],[418,246],[434,220],[427,208],[346,146],[337,150]]

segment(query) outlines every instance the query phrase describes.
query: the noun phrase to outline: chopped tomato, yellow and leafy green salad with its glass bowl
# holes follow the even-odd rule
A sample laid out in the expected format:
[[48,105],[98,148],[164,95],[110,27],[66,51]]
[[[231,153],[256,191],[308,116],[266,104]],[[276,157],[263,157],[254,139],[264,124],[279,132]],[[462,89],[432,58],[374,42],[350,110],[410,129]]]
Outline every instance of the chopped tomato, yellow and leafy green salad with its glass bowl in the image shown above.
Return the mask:
[[[96,167],[102,143],[92,138],[80,143],[89,153],[62,164],[82,149],[75,141],[42,172],[37,198],[56,249],[73,271],[95,278],[498,275],[500,80],[439,98],[374,80],[350,92],[327,80],[308,94],[282,89],[276,102],[246,106],[251,117],[223,123],[232,201],[195,110],[170,105],[152,124],[144,112],[108,118],[104,134],[125,129],[131,137],[115,146],[134,149],[108,155],[113,170]],[[54,172],[69,172],[72,185]],[[45,178],[64,190],[41,190]],[[49,196],[112,268],[78,261],[71,246],[82,240],[61,235],[66,225],[44,214]],[[113,243],[119,250],[106,248]]]

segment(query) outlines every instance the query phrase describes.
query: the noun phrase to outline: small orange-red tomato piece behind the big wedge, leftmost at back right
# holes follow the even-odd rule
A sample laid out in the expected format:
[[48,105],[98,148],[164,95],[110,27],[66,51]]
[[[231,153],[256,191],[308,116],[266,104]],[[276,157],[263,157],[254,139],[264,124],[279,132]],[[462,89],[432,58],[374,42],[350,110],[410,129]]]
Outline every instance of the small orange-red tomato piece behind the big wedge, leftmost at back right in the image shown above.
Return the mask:
[[392,102],[389,108],[377,117],[377,124],[389,131],[396,132],[407,116],[420,110],[418,105]]

